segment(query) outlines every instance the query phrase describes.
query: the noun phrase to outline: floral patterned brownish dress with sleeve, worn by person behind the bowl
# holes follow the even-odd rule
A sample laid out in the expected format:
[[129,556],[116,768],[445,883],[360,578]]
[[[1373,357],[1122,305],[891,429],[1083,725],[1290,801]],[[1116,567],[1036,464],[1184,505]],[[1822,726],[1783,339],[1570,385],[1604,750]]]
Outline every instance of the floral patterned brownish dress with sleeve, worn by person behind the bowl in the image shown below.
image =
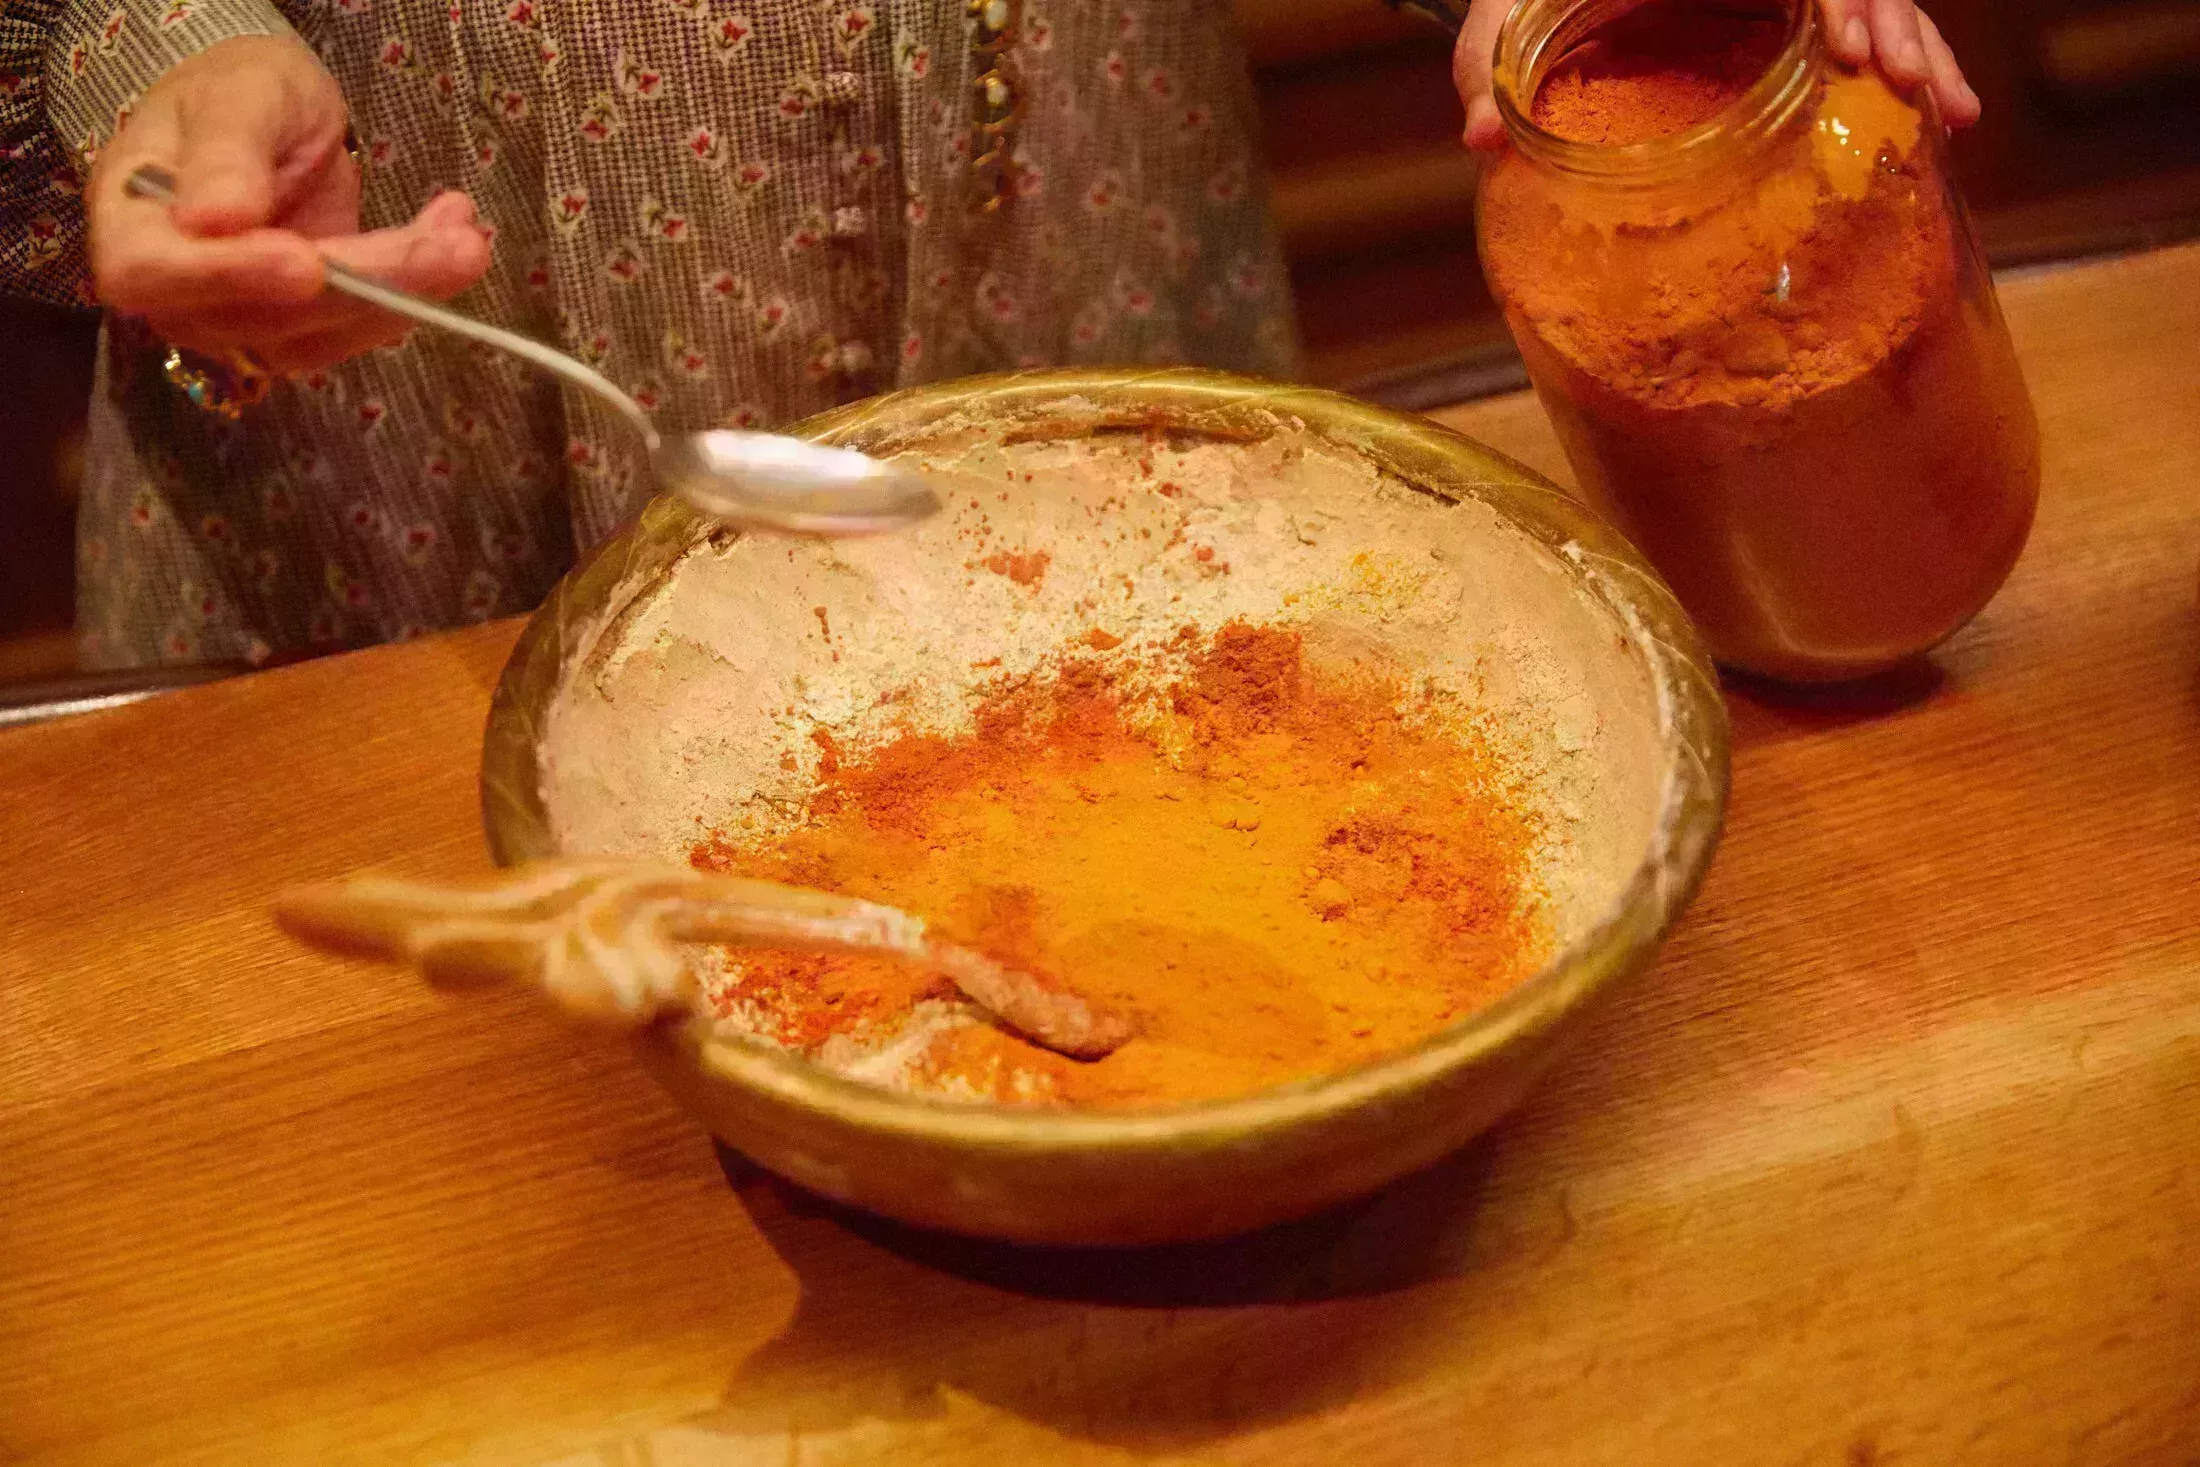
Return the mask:
[[[0,288],[86,301],[88,158],[180,57],[286,29],[343,86],[363,227],[469,191],[495,251],[460,304],[598,365],[669,431],[1014,365],[1289,372],[1214,0],[0,0]],[[649,493],[592,400],[433,332],[277,383],[238,422],[163,356],[108,321],[88,666],[524,611]]]

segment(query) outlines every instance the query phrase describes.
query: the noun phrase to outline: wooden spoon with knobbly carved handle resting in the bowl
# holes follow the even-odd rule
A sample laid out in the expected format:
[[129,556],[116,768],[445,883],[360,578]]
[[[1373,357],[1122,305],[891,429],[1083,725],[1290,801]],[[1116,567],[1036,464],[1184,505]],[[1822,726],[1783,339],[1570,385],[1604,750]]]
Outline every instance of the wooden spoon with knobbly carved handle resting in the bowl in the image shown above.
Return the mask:
[[431,983],[541,983],[583,1018],[645,1025],[702,1014],[680,944],[873,952],[944,974],[1003,1027],[1078,1060],[1131,1025],[1027,972],[931,937],[922,917],[827,891],[704,875],[645,860],[541,860],[488,886],[356,878],[275,902],[293,937],[332,952],[414,963]]

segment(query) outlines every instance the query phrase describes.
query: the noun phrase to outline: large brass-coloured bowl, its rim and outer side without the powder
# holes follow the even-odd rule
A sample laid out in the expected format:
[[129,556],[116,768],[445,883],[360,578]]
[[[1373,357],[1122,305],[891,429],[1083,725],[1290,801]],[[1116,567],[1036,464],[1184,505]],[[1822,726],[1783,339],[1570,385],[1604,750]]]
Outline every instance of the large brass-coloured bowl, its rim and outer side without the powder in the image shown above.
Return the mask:
[[[814,1190],[909,1223],[1054,1245],[1223,1236],[1423,1168],[1503,1115],[1591,1005],[1643,968],[1696,891],[1727,796],[1727,715],[1696,631],[1641,556],[1571,495],[1426,418],[1212,372],[1034,372],[898,391],[794,431],[891,453],[944,420],[1023,431],[1166,429],[1258,440],[1289,424],[1395,482],[1472,499],[1527,534],[1608,618],[1654,699],[1654,834],[1617,900],[1531,981],[1421,1045],[1272,1091],[1155,1111],[968,1104],[840,1078],[770,1045],[671,1023],[642,1062],[713,1135]],[[1034,427],[1036,424],[1036,427]],[[541,741],[561,682],[704,530],[653,501],[552,592],[513,651],[482,750],[499,862],[561,853]],[[807,611],[803,611],[807,614]]]

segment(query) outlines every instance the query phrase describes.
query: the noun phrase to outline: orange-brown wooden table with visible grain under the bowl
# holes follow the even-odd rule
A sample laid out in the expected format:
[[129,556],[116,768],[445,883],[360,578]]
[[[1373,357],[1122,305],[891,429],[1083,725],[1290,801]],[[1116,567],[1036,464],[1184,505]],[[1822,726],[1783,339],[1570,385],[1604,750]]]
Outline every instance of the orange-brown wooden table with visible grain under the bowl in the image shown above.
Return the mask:
[[484,860],[510,625],[0,737],[0,1456],[2196,1460],[2200,249],[2004,295],[2000,600],[1736,695],[1703,900],[1529,1106],[1212,1249],[836,1216],[524,996],[284,946],[284,882]]

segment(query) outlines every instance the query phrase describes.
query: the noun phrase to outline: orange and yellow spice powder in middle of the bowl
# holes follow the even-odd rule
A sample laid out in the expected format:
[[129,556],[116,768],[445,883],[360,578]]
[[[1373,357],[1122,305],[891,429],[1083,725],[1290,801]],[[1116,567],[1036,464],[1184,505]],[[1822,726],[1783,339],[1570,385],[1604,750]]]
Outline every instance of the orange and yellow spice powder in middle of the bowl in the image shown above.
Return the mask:
[[[1098,1062],[946,1027],[909,1080],[966,1098],[1159,1106],[1335,1073],[1542,963],[1536,823],[1481,739],[1426,717],[1432,695],[1313,669],[1283,629],[1186,631],[1175,653],[1157,680],[1080,638],[990,691],[975,732],[832,750],[801,829],[693,862],[891,902],[1137,1027]],[[946,996],[779,952],[737,955],[719,994],[805,1054],[882,1045]]]

